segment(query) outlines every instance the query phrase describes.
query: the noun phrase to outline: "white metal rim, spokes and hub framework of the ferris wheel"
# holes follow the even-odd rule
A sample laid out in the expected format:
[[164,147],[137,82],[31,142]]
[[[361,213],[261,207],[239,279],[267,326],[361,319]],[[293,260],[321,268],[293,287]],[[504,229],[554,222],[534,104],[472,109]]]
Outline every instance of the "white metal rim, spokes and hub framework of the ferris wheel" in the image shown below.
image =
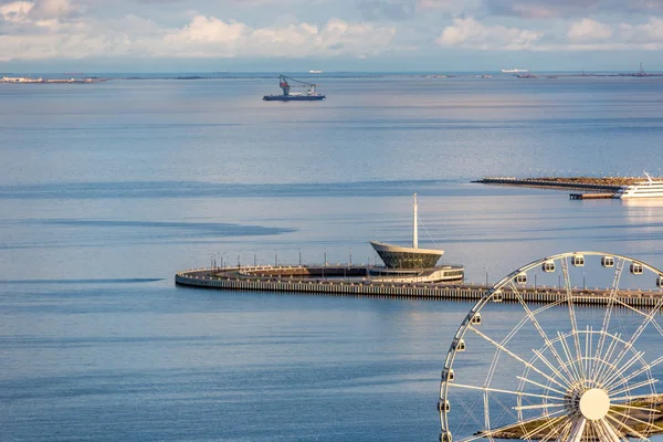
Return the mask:
[[[578,329],[573,302],[573,288],[571,288],[568,263],[570,257],[575,259],[577,256],[582,259],[582,265],[585,264],[585,256],[602,256],[602,259],[613,259],[612,265],[610,266],[614,266],[614,277],[612,286],[608,293],[606,313],[603,315],[602,327],[600,330],[590,329],[589,327],[583,330]],[[545,304],[536,311],[532,311],[527,302],[524,301],[522,294],[519,293],[519,288],[515,283],[516,277],[518,277],[518,275],[526,274],[528,271],[532,271],[538,266],[543,266],[548,262],[560,263],[564,275],[564,296],[560,296],[560,298],[556,302]],[[486,292],[486,294],[472,307],[472,309],[470,309],[467,315],[464,317],[452,339],[446,354],[444,369],[442,371],[442,380],[440,382],[440,402],[438,403],[441,425],[440,441],[452,442],[453,433],[450,430],[448,415],[451,409],[449,392],[450,389],[456,388],[480,390],[483,391],[484,397],[484,428],[473,436],[462,439],[462,441],[465,442],[480,439],[488,439],[494,441],[493,435],[496,435],[501,431],[504,431],[508,428],[523,429],[524,433],[522,439],[528,441],[533,440],[533,436],[537,436],[541,431],[548,431],[546,436],[536,438],[540,439],[543,442],[552,440],[562,442],[580,442],[582,440],[588,440],[587,438],[594,438],[600,441],[608,442],[623,442],[628,441],[628,436],[624,435],[627,433],[636,435],[639,440],[649,441],[648,435],[650,433],[654,431],[663,432],[663,428],[654,425],[652,423],[653,421],[651,420],[651,412],[657,412],[657,410],[628,404],[632,403],[634,399],[639,398],[631,396],[630,393],[636,388],[650,387],[652,394],[656,394],[655,383],[657,380],[652,378],[651,369],[654,366],[663,362],[663,356],[646,362],[642,358],[644,351],[636,351],[633,344],[649,325],[653,325],[663,337],[663,327],[661,327],[661,325],[659,325],[655,320],[655,316],[661,311],[661,307],[663,307],[663,295],[649,312],[643,312],[640,308],[632,307],[622,302],[618,296],[619,283],[627,263],[630,263],[631,265],[640,265],[640,273],[642,273],[642,270],[648,270],[657,275],[657,284],[661,285],[663,272],[643,261],[614,253],[591,251],[567,252],[543,257],[515,270],[493,285],[493,287]],[[518,325],[516,325],[516,327],[509,333],[509,335],[507,335],[502,343],[498,343],[478,330],[478,324],[481,324],[481,309],[491,301],[501,302],[502,293],[505,288],[511,290],[515,294],[517,302],[525,311],[525,315]],[[559,305],[568,306],[571,330],[566,334],[558,332],[556,337],[550,338],[538,324],[536,314]],[[636,314],[644,316],[643,322],[628,340],[621,338],[619,335],[609,333],[610,319],[615,306],[629,308]],[[538,350],[533,350],[535,356],[533,356],[529,360],[526,360],[511,351],[506,347],[505,343],[507,344],[511,338],[515,336],[518,329],[528,322],[532,323],[532,325],[534,325],[534,327],[537,329],[540,338],[544,340],[544,346]],[[464,350],[465,344],[463,339],[466,333],[470,330],[496,348],[496,352],[488,368],[488,373],[486,376],[486,382],[484,386],[462,385],[454,379],[453,362],[457,352]],[[581,336],[585,336],[585,344],[582,344]],[[593,343],[594,337],[598,338],[596,345]],[[585,352],[582,352],[582,345],[586,347]],[[594,346],[596,352],[592,350]],[[561,347],[564,355],[558,354],[559,350],[556,348],[559,347]],[[618,350],[619,347],[622,348]],[[548,360],[544,356],[544,351],[546,349],[550,350],[551,355],[555,356],[554,361]],[[495,373],[497,358],[501,354],[511,356],[515,360],[519,361],[524,367],[523,376],[516,377],[519,380],[517,391],[501,390],[490,387],[493,375]],[[537,368],[535,366],[535,362],[537,361],[541,362],[547,370]],[[629,369],[632,369],[635,364],[640,364],[641,367],[634,371],[632,370],[627,372]],[[546,383],[544,385],[528,379],[527,376],[530,371],[537,371],[538,375],[546,379]],[[632,380],[636,376],[643,373],[648,376],[646,380],[638,382],[633,386],[628,383],[629,380]],[[565,378],[569,379],[568,383],[560,382],[560,379]],[[544,393],[534,394],[524,392],[523,390],[525,385],[535,385],[541,388]],[[619,386],[622,387],[618,388]],[[516,394],[517,406],[514,407],[514,409],[517,413],[517,421],[514,424],[499,427],[494,430],[491,428],[488,407],[490,392]],[[611,393],[612,396],[610,396]],[[559,394],[562,394],[562,397],[560,398]],[[537,399],[543,400],[543,402],[541,404],[537,406],[523,406],[523,397],[536,397]],[[562,398],[564,401],[560,401]],[[552,400],[556,400],[557,402],[552,402]],[[618,400],[631,402],[619,403],[617,402]],[[523,410],[533,409],[541,409],[544,412],[540,415],[537,415],[535,419],[524,420]],[[649,422],[640,421],[633,418],[631,414],[624,414],[614,409],[619,409],[621,411],[628,411],[628,409],[634,409],[639,411],[649,410],[650,419]],[[609,410],[611,413],[608,412]],[[465,411],[470,412],[470,410]],[[648,431],[636,431],[635,429],[625,424],[623,419],[615,419],[614,415],[634,419],[636,422],[645,424]],[[481,425],[481,422],[475,417],[473,417],[473,419]],[[535,421],[537,424],[538,422],[544,421],[544,424],[539,425],[535,430],[526,431],[525,424],[533,423]]]

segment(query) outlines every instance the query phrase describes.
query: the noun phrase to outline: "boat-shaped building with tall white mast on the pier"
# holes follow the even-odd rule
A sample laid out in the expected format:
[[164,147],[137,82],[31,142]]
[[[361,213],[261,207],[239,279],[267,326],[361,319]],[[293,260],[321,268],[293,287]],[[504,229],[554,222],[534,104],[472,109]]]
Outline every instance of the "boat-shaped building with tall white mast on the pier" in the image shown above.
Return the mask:
[[417,193],[414,193],[414,203],[412,206],[412,246],[407,248],[396,244],[387,244],[378,241],[369,241],[380,259],[388,269],[393,270],[415,270],[432,269],[440,257],[444,254],[443,250],[419,249],[418,225],[418,206]]

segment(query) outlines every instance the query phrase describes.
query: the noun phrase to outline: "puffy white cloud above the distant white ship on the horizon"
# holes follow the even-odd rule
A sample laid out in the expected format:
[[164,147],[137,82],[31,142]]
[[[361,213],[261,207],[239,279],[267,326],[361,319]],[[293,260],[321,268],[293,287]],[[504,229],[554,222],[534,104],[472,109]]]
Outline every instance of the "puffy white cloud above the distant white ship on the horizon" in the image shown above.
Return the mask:
[[451,27],[442,30],[435,43],[480,50],[517,51],[532,49],[541,32],[502,25],[486,27],[473,18],[455,19]]

